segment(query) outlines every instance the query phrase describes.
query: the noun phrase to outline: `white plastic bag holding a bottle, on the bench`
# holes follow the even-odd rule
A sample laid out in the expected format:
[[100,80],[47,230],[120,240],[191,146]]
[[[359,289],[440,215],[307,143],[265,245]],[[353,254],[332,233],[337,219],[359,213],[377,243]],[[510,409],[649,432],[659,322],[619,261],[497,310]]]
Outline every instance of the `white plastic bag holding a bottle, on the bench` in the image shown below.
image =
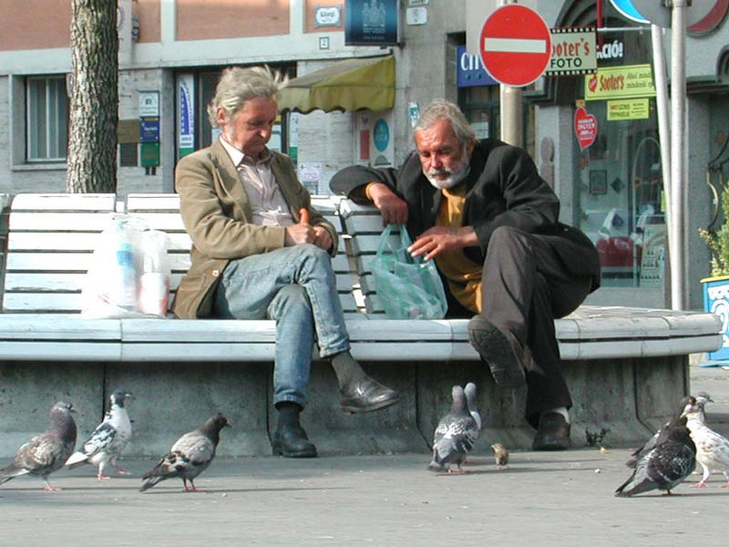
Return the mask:
[[113,213],[101,232],[81,291],[84,317],[167,315],[167,234],[138,217]]

